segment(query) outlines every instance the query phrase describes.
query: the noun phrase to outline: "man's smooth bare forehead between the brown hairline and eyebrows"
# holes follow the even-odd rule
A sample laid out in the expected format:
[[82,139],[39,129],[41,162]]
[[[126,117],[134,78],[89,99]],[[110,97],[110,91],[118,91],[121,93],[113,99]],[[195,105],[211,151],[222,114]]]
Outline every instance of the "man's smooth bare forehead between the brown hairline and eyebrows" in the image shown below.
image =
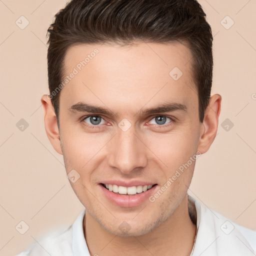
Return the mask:
[[69,105],[97,101],[98,105],[122,102],[129,106],[132,101],[142,107],[149,101],[155,105],[170,100],[195,105],[191,58],[190,50],[178,42],[71,46],[63,62],[63,79],[72,72],[75,75],[61,94],[68,95]]

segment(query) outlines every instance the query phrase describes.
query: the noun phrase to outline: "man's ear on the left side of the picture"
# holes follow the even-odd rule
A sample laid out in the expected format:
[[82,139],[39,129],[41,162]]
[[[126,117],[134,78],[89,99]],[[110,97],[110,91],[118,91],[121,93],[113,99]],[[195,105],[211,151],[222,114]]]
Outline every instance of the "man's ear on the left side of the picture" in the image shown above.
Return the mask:
[[50,98],[48,95],[42,95],[41,103],[43,107],[43,115],[44,115],[44,127],[46,130],[46,134],[50,143],[54,147],[54,149],[62,154],[61,144],[60,144],[60,137],[59,137],[59,130],[57,125],[57,118],[54,112],[54,107],[51,103]]

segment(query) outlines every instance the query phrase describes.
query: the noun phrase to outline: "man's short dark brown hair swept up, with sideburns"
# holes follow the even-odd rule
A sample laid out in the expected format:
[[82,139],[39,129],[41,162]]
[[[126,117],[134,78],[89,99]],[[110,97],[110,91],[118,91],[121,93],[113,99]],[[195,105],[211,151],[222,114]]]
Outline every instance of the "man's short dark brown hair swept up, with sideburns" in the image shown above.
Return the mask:
[[[50,94],[61,83],[67,49],[78,43],[181,42],[192,53],[199,120],[203,121],[212,83],[212,33],[196,0],[71,0],[48,28]],[[59,93],[51,95],[58,121]],[[59,123],[59,122],[58,122]]]

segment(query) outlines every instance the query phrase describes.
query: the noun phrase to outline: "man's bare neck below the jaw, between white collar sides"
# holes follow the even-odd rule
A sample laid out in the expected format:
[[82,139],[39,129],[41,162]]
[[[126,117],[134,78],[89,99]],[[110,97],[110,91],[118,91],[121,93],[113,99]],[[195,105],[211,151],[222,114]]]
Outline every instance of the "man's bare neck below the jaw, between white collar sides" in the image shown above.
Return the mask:
[[175,211],[149,233],[116,236],[103,229],[88,213],[83,220],[83,230],[90,255],[189,256],[196,231],[196,211],[186,195]]

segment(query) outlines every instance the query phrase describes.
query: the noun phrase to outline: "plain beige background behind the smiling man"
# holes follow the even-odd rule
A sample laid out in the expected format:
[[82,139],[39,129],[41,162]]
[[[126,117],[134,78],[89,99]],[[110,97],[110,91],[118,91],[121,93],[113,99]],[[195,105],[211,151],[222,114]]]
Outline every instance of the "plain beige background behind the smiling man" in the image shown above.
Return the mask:
[[[199,2],[214,35],[212,94],[222,95],[222,108],[217,136],[197,160],[189,194],[256,229],[256,0]],[[44,231],[72,224],[83,209],[66,178],[62,155],[48,141],[40,103],[41,95],[48,93],[45,34],[64,4],[65,0],[0,0],[0,255],[4,256],[26,249]],[[21,15],[29,21],[24,29],[19,27],[25,24]],[[229,29],[232,20],[227,15],[234,21]],[[21,118],[29,125],[23,131],[16,127]],[[229,130],[225,122],[221,126],[226,118],[234,124]],[[29,226],[24,234],[15,228],[21,220]]]

